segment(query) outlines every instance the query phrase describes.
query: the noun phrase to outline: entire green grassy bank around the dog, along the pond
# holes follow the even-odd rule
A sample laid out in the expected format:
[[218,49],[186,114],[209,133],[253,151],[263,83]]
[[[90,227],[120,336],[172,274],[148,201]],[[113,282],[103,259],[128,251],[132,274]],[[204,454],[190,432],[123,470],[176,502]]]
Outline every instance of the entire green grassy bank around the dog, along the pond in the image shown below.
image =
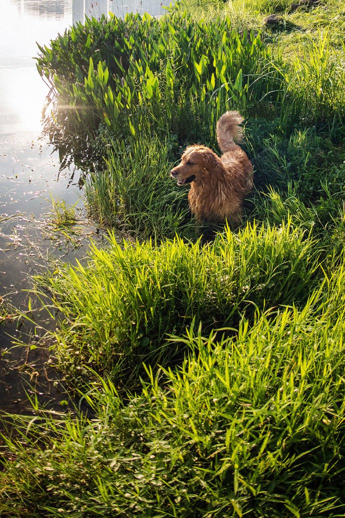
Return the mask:
[[[36,280],[81,405],[4,417],[2,516],[344,515],[343,7],[291,4],[88,20],[40,49],[53,141],[130,239]],[[169,170],[217,149],[227,109],[256,189],[207,241]]]

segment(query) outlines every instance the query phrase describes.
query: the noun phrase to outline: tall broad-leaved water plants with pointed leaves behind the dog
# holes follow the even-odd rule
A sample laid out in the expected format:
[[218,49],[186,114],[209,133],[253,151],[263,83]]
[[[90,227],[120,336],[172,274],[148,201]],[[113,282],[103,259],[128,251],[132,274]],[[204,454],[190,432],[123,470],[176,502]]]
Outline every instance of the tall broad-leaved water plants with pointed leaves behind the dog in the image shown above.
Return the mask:
[[73,126],[82,140],[95,137],[100,123],[117,138],[172,132],[214,139],[228,108],[245,110],[252,99],[279,95],[279,56],[274,66],[260,35],[240,35],[229,17],[102,17],[73,26],[40,52],[38,70],[65,107],[54,122],[68,135]]

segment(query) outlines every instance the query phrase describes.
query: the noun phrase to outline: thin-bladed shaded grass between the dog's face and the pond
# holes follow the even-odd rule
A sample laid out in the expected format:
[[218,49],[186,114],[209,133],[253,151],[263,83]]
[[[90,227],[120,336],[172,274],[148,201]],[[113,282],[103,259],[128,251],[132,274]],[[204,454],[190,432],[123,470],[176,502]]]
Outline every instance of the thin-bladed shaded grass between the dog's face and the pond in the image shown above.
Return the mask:
[[141,239],[172,238],[177,230],[194,234],[187,221],[187,191],[169,175],[174,140],[136,134],[125,141],[108,134],[104,145],[109,148],[104,170],[85,180],[89,211],[100,223]]

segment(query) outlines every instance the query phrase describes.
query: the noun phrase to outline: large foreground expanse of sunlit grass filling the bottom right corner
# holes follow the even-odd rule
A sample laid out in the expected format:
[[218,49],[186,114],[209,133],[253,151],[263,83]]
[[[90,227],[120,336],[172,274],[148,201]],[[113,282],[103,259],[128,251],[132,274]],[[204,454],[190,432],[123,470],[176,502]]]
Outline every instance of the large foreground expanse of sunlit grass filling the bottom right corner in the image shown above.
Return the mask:
[[[306,304],[191,326],[181,366],[124,402],[100,381],[85,415],[18,418],[4,438],[11,516],[340,516],[343,263]],[[37,442],[39,441],[39,442]],[[47,502],[47,494],[49,501]]]

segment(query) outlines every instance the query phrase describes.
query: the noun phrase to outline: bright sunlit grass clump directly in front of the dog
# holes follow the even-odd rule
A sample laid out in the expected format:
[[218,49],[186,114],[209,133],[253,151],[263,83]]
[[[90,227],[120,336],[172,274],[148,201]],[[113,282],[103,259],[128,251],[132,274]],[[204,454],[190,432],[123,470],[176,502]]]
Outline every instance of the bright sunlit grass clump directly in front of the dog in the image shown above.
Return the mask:
[[87,265],[43,280],[65,318],[55,352],[72,377],[88,364],[133,379],[143,361],[181,356],[167,337],[193,320],[204,329],[236,326],[255,307],[298,304],[317,279],[320,254],[290,221],[247,225],[237,236],[228,228],[207,246],[179,238],[121,246],[114,236],[109,246],[93,246]]

